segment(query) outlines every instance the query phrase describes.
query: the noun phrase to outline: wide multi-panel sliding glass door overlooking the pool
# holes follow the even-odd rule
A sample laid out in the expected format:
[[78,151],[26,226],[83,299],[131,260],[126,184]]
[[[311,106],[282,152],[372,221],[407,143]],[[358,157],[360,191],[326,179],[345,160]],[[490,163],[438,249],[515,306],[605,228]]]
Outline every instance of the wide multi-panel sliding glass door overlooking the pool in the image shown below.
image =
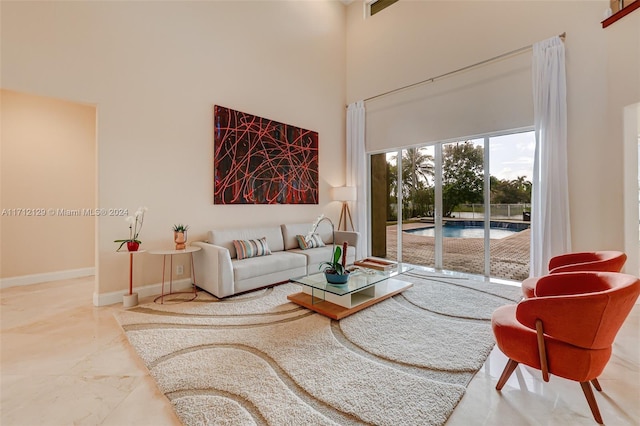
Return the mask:
[[533,132],[371,155],[372,255],[522,280]]

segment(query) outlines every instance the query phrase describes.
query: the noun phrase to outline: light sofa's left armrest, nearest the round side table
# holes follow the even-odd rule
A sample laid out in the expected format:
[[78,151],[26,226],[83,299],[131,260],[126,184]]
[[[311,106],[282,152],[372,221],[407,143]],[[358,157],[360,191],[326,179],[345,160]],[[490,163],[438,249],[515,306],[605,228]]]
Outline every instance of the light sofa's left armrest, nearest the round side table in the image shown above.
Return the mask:
[[191,245],[202,249],[193,253],[196,286],[216,297],[233,295],[235,286],[229,250],[201,241]]

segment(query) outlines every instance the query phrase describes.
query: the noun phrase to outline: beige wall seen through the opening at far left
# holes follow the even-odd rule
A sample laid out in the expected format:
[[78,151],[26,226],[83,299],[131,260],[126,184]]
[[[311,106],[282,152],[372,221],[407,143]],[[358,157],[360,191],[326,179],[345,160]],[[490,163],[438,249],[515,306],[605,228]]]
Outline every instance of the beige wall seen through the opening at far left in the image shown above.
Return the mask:
[[0,90],[0,105],[3,286],[52,272],[90,275],[95,218],[71,215],[95,208],[96,108],[9,90]]

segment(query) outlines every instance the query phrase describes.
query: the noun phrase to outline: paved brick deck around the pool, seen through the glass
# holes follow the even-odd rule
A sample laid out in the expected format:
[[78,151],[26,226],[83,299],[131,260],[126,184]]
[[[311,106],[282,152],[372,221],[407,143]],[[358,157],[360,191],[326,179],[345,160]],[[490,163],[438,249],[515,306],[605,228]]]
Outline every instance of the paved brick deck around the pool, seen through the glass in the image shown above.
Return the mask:
[[[406,223],[403,230],[424,228],[425,223]],[[490,240],[491,276],[522,281],[529,276],[531,230],[520,231],[499,240]],[[387,258],[397,260],[396,225],[387,226]],[[482,238],[444,238],[443,269],[484,274],[484,242]],[[403,232],[402,261],[435,266],[435,238]]]

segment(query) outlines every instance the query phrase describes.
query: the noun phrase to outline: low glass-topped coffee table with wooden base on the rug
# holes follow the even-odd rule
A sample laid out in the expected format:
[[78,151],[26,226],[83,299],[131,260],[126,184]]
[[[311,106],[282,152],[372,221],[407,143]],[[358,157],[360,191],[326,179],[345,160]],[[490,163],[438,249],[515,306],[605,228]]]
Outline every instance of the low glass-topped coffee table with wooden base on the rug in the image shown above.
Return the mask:
[[350,274],[349,282],[344,285],[327,283],[322,272],[292,278],[293,283],[302,286],[302,292],[291,294],[287,298],[307,309],[339,320],[412,287],[412,283],[393,278],[410,269],[409,265],[402,263],[388,271],[359,268]]

